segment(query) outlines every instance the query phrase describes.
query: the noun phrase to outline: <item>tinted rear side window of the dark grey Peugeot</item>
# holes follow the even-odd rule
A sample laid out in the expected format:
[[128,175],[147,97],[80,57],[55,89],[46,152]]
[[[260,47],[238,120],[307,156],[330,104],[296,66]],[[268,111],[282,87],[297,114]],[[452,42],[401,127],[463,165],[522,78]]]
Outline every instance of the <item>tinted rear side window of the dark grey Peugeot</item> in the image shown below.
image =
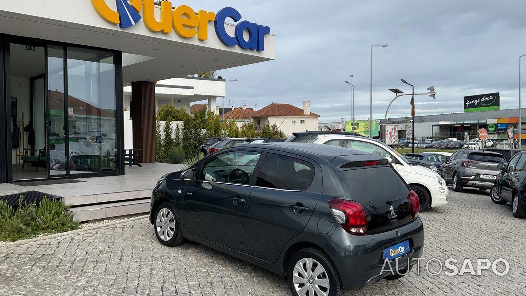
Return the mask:
[[261,165],[256,186],[305,190],[314,179],[314,166],[307,161],[290,156],[268,153]]

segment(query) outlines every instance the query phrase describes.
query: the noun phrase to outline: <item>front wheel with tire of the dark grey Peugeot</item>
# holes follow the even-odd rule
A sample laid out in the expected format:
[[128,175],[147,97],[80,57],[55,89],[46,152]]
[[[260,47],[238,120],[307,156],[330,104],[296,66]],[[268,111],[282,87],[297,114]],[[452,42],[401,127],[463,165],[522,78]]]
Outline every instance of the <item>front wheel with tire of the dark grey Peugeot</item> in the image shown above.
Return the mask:
[[155,236],[160,243],[174,247],[183,242],[179,216],[170,202],[161,203],[156,209],[154,217]]

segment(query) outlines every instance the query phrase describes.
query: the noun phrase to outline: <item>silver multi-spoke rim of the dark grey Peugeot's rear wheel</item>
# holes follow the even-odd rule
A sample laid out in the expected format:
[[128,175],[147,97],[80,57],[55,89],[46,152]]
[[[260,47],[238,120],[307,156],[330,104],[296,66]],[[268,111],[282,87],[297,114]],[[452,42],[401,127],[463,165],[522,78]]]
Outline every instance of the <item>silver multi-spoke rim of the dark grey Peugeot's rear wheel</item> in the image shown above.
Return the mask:
[[294,267],[292,281],[300,296],[325,296],[329,294],[330,283],[327,271],[316,259],[300,259]]

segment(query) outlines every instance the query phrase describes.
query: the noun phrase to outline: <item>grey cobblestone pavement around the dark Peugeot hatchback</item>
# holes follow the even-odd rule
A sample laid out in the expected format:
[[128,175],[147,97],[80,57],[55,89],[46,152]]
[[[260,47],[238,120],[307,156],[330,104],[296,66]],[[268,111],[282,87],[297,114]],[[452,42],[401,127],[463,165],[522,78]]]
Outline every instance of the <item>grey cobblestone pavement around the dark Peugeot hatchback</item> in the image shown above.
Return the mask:
[[[424,257],[510,262],[507,275],[489,271],[448,277],[413,269],[346,295],[526,296],[526,220],[488,192],[451,191],[449,204],[421,213]],[[432,261],[430,269],[437,271]],[[461,263],[457,266],[461,267]],[[0,247],[0,295],[290,295],[286,282],[266,270],[197,243],[167,248],[147,219],[85,230],[16,247]]]

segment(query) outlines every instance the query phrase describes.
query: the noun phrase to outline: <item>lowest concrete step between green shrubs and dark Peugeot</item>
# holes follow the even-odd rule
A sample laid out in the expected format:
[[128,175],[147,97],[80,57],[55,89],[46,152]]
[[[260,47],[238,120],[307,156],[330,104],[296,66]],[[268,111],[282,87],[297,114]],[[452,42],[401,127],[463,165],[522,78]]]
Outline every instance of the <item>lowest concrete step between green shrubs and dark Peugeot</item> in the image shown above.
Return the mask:
[[76,221],[89,221],[150,211],[150,198],[86,205],[69,208]]

